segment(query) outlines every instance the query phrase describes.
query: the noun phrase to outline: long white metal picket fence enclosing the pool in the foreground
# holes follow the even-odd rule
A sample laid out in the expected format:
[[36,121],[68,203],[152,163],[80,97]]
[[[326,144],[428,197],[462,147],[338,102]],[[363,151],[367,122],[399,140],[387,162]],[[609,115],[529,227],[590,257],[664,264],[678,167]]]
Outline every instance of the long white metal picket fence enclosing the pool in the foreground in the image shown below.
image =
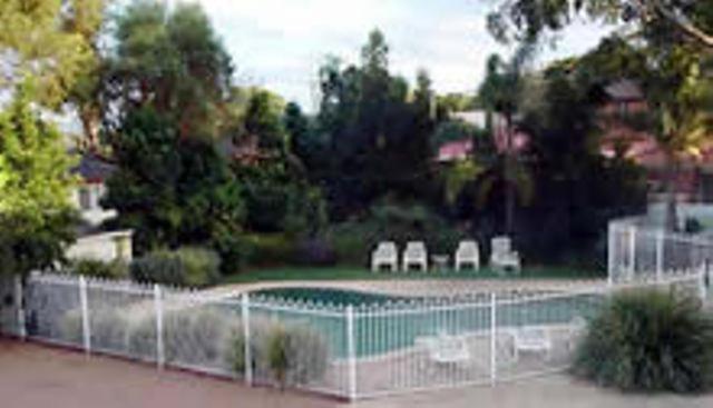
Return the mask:
[[16,307],[2,328],[86,352],[356,399],[561,370],[612,291],[661,285],[705,296],[705,276],[344,306],[32,275],[25,289],[10,286]]

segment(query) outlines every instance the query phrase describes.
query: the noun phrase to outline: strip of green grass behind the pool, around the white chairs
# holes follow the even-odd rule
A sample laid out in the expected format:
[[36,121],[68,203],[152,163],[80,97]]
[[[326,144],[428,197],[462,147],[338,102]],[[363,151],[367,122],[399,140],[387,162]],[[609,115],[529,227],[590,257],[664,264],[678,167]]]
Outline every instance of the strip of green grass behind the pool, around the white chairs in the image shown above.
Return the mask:
[[597,279],[605,278],[605,271],[587,270],[561,266],[537,266],[522,269],[518,275],[498,272],[488,268],[478,271],[409,271],[372,272],[358,267],[282,267],[255,269],[223,278],[225,283],[246,283],[265,280],[364,280],[364,279]]

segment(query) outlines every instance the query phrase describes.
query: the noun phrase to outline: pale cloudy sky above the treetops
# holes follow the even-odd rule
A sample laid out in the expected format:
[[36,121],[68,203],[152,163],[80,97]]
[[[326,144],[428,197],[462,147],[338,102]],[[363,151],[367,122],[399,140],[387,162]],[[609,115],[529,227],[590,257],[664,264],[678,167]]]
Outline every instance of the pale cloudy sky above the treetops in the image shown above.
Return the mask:
[[[178,0],[168,0],[175,3]],[[507,56],[486,30],[497,0],[197,0],[236,66],[236,82],[262,86],[313,111],[316,72],[328,54],[358,62],[369,32],[390,46],[390,70],[413,80],[419,68],[439,93],[475,91],[488,56]],[[538,64],[580,54],[608,30],[575,22]]]

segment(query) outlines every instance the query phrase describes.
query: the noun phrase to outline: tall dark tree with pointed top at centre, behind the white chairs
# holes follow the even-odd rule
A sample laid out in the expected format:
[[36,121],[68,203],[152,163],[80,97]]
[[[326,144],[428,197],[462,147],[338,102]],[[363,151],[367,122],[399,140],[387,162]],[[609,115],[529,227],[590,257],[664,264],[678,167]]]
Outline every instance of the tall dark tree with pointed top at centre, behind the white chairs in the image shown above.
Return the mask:
[[438,118],[428,74],[417,73],[412,92],[406,79],[392,76],[389,46],[378,30],[361,54],[359,66],[330,58],[320,69],[315,139],[326,146],[330,162],[319,172],[338,219],[382,196],[408,200],[431,188],[430,136]]

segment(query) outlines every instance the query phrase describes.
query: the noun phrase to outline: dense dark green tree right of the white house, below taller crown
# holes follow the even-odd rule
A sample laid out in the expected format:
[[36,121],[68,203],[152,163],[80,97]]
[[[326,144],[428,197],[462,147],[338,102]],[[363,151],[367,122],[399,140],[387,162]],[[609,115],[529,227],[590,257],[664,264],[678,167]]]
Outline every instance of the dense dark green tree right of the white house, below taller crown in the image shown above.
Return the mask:
[[211,141],[182,138],[178,126],[152,108],[133,110],[111,140],[118,170],[104,205],[115,225],[135,230],[141,253],[160,247],[208,245],[240,236],[242,189]]

